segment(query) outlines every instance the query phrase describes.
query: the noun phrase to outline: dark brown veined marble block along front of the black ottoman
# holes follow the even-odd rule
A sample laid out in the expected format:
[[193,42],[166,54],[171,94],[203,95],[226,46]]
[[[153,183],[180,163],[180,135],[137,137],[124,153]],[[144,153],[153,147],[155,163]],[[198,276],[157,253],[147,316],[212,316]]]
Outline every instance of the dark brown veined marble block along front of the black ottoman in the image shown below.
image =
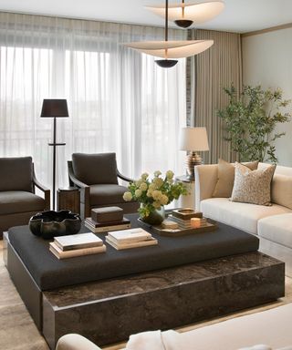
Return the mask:
[[284,262],[250,252],[44,292],[42,332],[52,349],[68,333],[108,345],[284,295]]

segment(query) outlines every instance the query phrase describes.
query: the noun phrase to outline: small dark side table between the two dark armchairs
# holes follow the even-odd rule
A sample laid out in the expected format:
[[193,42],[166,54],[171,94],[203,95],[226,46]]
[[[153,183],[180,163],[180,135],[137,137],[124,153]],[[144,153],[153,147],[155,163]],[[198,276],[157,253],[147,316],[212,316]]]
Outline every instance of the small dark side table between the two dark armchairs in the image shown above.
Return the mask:
[[80,213],[80,191],[76,187],[57,190],[57,210]]

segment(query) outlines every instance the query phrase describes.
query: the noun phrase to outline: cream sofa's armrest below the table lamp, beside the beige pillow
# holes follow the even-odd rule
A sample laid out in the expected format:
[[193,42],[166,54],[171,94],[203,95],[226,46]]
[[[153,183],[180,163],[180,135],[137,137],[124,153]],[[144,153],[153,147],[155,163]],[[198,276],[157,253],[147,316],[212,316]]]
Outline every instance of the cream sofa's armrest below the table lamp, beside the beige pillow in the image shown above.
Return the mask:
[[218,164],[197,165],[194,167],[195,208],[201,209],[201,201],[212,198],[218,180]]

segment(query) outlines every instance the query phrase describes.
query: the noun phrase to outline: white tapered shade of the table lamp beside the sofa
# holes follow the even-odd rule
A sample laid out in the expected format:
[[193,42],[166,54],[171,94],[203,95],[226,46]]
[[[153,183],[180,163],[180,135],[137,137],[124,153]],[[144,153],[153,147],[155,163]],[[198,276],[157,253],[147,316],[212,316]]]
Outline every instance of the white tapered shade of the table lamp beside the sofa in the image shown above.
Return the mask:
[[205,128],[183,128],[180,133],[181,150],[209,150]]

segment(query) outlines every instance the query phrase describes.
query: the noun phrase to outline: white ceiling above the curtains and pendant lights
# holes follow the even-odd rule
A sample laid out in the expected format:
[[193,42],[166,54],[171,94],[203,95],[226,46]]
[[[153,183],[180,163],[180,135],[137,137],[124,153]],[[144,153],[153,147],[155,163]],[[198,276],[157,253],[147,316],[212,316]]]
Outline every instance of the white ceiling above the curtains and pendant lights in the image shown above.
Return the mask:
[[[0,0],[0,11],[163,26],[162,18],[143,7],[163,3],[163,0]],[[180,4],[181,0],[169,3]],[[245,33],[292,22],[292,0],[224,0],[224,3],[220,15],[197,27]]]

